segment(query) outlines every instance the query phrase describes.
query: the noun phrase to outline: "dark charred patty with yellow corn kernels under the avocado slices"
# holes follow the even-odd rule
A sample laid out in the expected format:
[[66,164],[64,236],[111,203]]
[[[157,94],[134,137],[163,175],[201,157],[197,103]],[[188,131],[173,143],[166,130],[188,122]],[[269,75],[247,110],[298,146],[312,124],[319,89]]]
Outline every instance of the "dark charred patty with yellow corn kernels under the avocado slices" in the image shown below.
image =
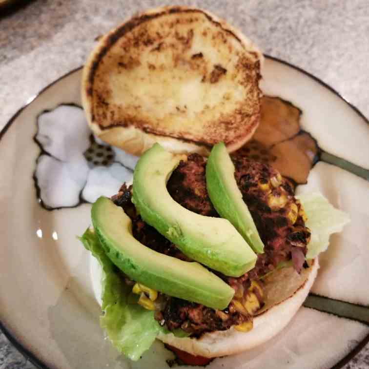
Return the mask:
[[[169,330],[181,328],[195,336],[231,326],[247,331],[252,328],[252,317],[264,305],[263,277],[285,263],[292,263],[298,273],[307,267],[305,255],[310,231],[305,226],[305,213],[294,197],[292,185],[267,164],[240,156],[233,156],[232,161],[237,185],[264,243],[264,253],[258,254],[255,267],[241,277],[227,277],[213,271],[235,290],[234,298],[224,310],[161,293],[150,295],[143,286],[126,278],[126,283],[133,286],[133,292],[141,294],[139,303],[155,309],[155,319]],[[219,217],[207,194],[205,164],[202,156],[189,155],[187,161],[181,161],[173,171],[167,189],[173,199],[188,210]],[[131,186],[123,184],[112,200],[132,220],[134,237],[157,252],[190,261],[155,228],[143,222],[131,197]]]

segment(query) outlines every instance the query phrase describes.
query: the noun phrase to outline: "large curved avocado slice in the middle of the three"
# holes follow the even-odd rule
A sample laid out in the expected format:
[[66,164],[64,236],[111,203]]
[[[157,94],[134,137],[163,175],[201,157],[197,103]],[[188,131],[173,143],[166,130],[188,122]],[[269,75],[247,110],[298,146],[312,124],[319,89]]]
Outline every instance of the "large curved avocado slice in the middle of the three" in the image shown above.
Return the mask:
[[239,277],[255,266],[257,256],[236,228],[226,219],[187,210],[168,193],[166,182],[184,158],[154,144],[136,164],[132,201],[143,220],[185,255],[225,275]]

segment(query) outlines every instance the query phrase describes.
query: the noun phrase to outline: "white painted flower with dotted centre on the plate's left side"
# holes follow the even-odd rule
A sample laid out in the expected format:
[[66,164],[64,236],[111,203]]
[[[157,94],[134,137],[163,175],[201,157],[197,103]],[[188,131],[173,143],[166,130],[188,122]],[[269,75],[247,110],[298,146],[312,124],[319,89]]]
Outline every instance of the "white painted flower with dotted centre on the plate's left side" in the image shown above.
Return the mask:
[[42,112],[35,141],[41,148],[34,180],[46,209],[93,203],[132,180],[138,158],[95,140],[81,107]]

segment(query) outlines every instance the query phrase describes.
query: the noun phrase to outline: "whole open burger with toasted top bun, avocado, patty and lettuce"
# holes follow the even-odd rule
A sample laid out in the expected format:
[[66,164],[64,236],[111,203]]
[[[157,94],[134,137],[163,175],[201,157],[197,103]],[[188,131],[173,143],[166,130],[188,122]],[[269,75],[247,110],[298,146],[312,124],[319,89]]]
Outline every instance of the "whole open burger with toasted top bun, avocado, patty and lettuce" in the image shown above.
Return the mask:
[[[85,64],[92,130],[141,155],[133,184],[92,205],[80,238],[102,268],[101,325],[132,360],[156,338],[206,358],[266,342],[348,221],[320,194],[297,198],[270,165],[229,154],[258,125],[262,59],[210,13],[165,7],[112,30]],[[322,214],[337,224],[323,229]]]

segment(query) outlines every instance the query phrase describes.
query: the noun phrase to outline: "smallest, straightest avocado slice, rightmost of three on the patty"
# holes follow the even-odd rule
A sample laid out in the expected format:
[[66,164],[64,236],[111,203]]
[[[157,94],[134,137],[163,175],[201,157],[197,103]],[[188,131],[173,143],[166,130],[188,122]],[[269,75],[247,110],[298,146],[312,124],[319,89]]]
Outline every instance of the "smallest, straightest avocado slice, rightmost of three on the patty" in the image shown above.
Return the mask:
[[206,163],[206,187],[215,210],[228,219],[257,253],[264,244],[234,178],[234,165],[223,142],[213,146]]

